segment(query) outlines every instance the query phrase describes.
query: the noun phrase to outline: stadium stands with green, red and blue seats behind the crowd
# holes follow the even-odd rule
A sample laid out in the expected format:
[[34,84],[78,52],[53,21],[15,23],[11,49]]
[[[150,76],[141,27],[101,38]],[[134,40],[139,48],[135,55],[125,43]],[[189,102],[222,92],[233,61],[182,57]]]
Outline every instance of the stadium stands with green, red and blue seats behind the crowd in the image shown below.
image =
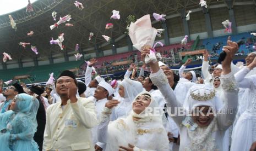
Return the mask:
[[[217,57],[217,54],[221,53],[221,48],[223,45],[226,44],[228,35],[221,36],[221,37],[214,37],[214,38],[207,38],[207,39],[199,39],[199,36],[194,41],[190,41],[187,43],[187,45],[184,47],[180,43],[167,45],[164,47],[157,47],[156,51],[157,53],[160,53],[162,57],[170,58],[170,50],[172,49],[175,53],[175,57],[178,57],[179,52],[183,51],[193,51],[198,49],[207,49],[211,52],[214,57]],[[252,52],[252,46],[255,45],[256,39],[250,35],[249,32],[246,33],[240,33],[236,35],[232,35],[232,40],[237,41],[239,39],[244,40],[246,43],[241,45],[239,48],[238,55],[247,55],[248,53]],[[201,45],[200,45],[201,44]],[[215,55],[214,55],[215,54]],[[129,51],[126,53],[120,53],[116,55],[108,55],[103,57],[97,57],[98,62],[96,63],[96,71],[98,74],[109,74],[109,73],[115,73],[115,72],[121,72],[125,71],[129,65],[120,65],[120,66],[112,66],[111,63],[113,62],[121,62],[121,61],[129,61],[132,60],[135,61],[135,55],[137,55],[137,61],[140,61],[140,52],[138,50],[135,51]],[[86,57],[86,61],[89,61],[90,57]],[[167,60],[166,60],[167,61]],[[177,61],[179,64],[181,62]],[[170,62],[167,63],[168,65]],[[43,66],[37,66],[37,67],[24,67],[24,68],[15,68],[15,69],[7,69],[7,70],[0,70],[0,79],[3,79],[4,81],[13,79],[14,76],[17,75],[30,75],[30,78],[28,79],[18,79],[21,82],[25,83],[35,83],[35,82],[45,82],[48,79],[48,74],[51,72],[55,73],[55,77],[58,76],[58,74],[63,71],[63,69],[73,69],[77,75],[80,75],[80,77],[83,76],[85,69],[86,69],[86,63],[84,63],[83,60],[80,61],[70,61],[70,62],[64,62],[64,63],[54,63],[53,65],[43,65]]]

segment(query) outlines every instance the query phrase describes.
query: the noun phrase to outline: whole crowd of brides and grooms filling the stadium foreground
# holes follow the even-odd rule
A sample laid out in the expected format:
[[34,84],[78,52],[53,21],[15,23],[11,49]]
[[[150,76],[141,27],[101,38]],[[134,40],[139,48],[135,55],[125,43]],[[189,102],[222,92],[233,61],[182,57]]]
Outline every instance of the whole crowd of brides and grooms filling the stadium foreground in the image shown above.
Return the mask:
[[[91,59],[84,80],[63,71],[45,86],[9,84],[0,94],[0,150],[255,150],[256,53],[238,67],[237,43],[222,50],[210,70],[204,51],[200,77],[185,72],[188,59],[178,74],[151,61],[108,81]],[[141,61],[149,54],[143,49]]]

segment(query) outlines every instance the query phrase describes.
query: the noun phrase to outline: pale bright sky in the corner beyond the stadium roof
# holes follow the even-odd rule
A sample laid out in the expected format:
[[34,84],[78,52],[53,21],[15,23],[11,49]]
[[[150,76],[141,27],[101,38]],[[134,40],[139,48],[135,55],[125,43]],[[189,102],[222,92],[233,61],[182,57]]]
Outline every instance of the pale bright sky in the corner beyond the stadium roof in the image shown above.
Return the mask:
[[[30,3],[34,3],[35,1],[38,0],[30,0]],[[0,15],[25,8],[28,3],[28,0],[0,0]]]

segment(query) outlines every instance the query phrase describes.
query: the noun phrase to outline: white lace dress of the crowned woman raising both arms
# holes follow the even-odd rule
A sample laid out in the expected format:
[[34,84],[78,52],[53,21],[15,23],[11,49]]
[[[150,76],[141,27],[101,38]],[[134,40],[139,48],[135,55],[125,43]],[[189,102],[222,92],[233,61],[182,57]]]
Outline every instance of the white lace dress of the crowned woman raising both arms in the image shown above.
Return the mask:
[[[167,101],[167,107],[170,109],[168,113],[175,114],[176,107],[182,107],[181,102],[179,102],[168,84],[168,80],[160,69],[156,73],[150,74],[150,79],[159,88],[162,95]],[[235,82],[235,77],[232,73],[221,76],[222,88],[224,90],[224,95],[221,97],[227,103],[224,108],[221,109],[222,114],[217,114],[210,125],[207,127],[197,127],[194,131],[189,130],[186,126],[182,125],[182,121],[187,119],[186,115],[174,115],[173,120],[177,125],[179,125],[181,142],[179,146],[180,151],[184,150],[223,150],[222,142],[224,138],[224,133],[228,127],[230,127],[235,119],[235,113],[230,113],[227,111],[236,111],[238,102],[238,87]],[[225,112],[224,112],[225,111]]]

